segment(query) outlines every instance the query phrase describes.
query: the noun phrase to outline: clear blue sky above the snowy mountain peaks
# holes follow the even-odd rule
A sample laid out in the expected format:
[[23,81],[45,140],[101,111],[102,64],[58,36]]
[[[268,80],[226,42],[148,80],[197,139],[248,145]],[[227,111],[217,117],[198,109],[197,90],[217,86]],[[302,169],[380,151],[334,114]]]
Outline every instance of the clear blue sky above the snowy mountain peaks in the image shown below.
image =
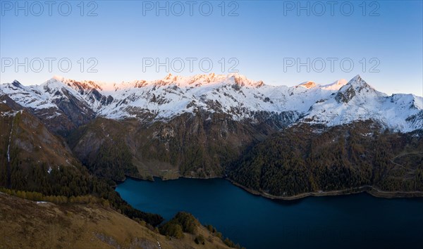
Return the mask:
[[[106,82],[159,79],[167,71],[173,75],[193,75],[203,73],[199,65],[202,58],[212,60],[212,72],[222,73],[219,60],[225,58],[224,73],[238,60],[235,69],[240,74],[266,84],[292,86],[307,80],[329,84],[360,74],[387,94],[423,95],[422,1],[377,1],[376,4],[367,1],[365,10],[362,1],[335,1],[333,13],[328,1],[320,1],[324,12],[314,1],[236,1],[236,4],[226,1],[224,16],[219,6],[221,1],[209,1],[213,11],[208,16],[209,5],[204,1],[195,1],[192,15],[190,5],[180,1],[185,8],[180,16],[177,16],[180,6],[173,1],[168,1],[168,16],[164,10],[156,15],[157,1],[96,1],[96,4],[85,1],[83,11],[78,6],[80,1],[68,1],[72,11],[67,16],[61,15],[68,12],[67,4],[62,4],[59,12],[60,1],[52,6],[51,16],[48,5],[40,13],[40,6],[32,6],[32,2],[18,4],[25,8],[25,2],[27,16],[25,10],[19,10],[16,15],[16,1],[1,0],[0,52],[4,71],[0,72],[1,83],[18,79],[23,84],[39,84],[53,75]],[[165,4],[161,1],[161,6]],[[299,15],[298,4],[306,7]],[[348,15],[351,5],[354,11]],[[87,16],[93,8],[96,9],[92,13],[97,16]],[[231,11],[238,15],[229,16]],[[14,65],[5,66],[11,63],[8,58],[18,58],[20,63],[28,58],[28,64],[34,58],[41,58],[44,68],[39,70],[37,60],[33,60],[28,72],[23,66],[16,72]],[[51,64],[52,72],[44,58],[56,58]],[[59,70],[57,64],[61,58],[71,60],[73,67],[69,72]],[[80,58],[85,60],[83,72],[80,72]],[[87,72],[87,67],[94,63],[88,62],[88,58],[97,60],[94,69],[98,72]],[[160,67],[157,72],[154,66],[143,70],[143,58],[159,58],[161,62],[166,58],[169,61],[183,58],[185,70],[175,72],[173,68]],[[197,58],[192,64],[193,72],[185,58]],[[229,62],[230,58],[236,60]],[[309,58],[316,64],[313,67],[310,63],[310,72],[307,66],[298,72],[296,66],[284,68],[286,63],[293,62],[290,58],[294,61],[299,58],[303,63]],[[325,60],[324,70],[316,58]],[[326,58],[338,58],[333,64],[334,72]],[[349,68],[348,60],[341,70],[343,58],[353,61],[351,72],[345,72]],[[362,58],[366,60],[365,70]],[[374,69],[379,72],[369,72],[376,63],[379,65]],[[174,68],[178,70],[179,65],[176,62]],[[62,66],[66,69],[66,63]],[[207,63],[203,66],[207,68]]]

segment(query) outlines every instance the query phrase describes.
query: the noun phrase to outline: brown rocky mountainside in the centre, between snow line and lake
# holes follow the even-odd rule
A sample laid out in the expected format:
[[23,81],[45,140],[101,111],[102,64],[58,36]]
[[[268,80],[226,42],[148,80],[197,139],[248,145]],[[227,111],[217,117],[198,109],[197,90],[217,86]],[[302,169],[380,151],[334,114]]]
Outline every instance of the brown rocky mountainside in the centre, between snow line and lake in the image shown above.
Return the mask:
[[277,115],[260,122],[239,122],[219,113],[185,113],[148,125],[135,119],[97,118],[68,139],[75,155],[89,165],[102,146],[127,148],[140,174],[129,174],[133,177],[221,177],[225,166],[247,146],[286,124],[286,118]]

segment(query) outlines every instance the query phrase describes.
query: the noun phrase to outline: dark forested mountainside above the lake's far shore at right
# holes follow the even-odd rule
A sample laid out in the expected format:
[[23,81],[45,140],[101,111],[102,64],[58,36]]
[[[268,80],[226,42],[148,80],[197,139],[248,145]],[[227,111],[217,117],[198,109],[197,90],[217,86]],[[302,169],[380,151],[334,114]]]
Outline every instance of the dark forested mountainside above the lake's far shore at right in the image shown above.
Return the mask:
[[354,190],[423,191],[422,132],[379,132],[365,122],[290,127],[257,144],[231,165],[229,177],[274,196]]

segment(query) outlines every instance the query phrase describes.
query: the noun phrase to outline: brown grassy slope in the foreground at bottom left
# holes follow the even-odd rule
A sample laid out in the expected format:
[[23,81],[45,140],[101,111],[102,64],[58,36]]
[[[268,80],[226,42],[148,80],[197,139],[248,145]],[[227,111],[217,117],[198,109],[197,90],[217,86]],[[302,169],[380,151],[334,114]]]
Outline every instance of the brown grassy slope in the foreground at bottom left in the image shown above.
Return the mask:
[[197,245],[192,234],[168,239],[100,205],[35,203],[0,193],[0,248],[228,248],[211,236]]

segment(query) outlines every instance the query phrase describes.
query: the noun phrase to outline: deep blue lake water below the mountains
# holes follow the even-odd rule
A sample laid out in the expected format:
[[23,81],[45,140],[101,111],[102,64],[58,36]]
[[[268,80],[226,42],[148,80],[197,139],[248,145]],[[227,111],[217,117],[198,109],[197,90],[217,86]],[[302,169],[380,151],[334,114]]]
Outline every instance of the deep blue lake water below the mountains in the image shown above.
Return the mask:
[[360,193],[270,200],[224,179],[127,179],[116,191],[165,219],[190,212],[247,249],[423,248],[423,198]]

